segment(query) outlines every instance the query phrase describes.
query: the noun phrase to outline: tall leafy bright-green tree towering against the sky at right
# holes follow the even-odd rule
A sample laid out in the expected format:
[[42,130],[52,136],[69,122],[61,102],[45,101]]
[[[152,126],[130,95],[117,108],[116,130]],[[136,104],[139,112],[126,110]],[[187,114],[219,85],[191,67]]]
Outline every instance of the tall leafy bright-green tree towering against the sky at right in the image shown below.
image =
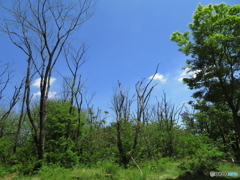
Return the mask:
[[184,69],[193,75],[183,81],[198,90],[193,97],[227,103],[240,139],[239,13],[240,5],[199,4],[188,24],[191,31],[174,32],[171,40],[180,46],[179,51],[191,55]]

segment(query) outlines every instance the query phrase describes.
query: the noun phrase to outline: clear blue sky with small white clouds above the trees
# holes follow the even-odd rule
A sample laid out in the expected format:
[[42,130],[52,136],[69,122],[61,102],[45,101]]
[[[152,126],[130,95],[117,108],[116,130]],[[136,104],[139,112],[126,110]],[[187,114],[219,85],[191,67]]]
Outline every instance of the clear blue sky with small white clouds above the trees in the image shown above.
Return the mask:
[[[3,1],[4,2],[4,1]],[[134,93],[134,85],[141,78],[149,78],[161,62],[158,83],[152,97],[166,92],[168,99],[176,105],[192,100],[193,93],[180,78],[185,75],[185,57],[178,52],[176,43],[170,41],[174,31],[188,30],[196,6],[201,3],[221,3],[220,0],[99,0],[96,11],[74,37],[89,46],[88,61],[81,67],[83,79],[88,79],[88,92],[96,92],[92,101],[94,107],[109,110],[113,88],[119,80],[123,87]],[[237,0],[229,0],[230,5]],[[3,13],[3,12],[2,12]],[[24,76],[26,57],[7,38],[0,36],[1,62],[14,61],[15,76],[12,82]],[[59,59],[56,69],[69,75],[63,59]],[[52,94],[61,88],[61,76],[53,73]],[[11,86],[11,85],[10,85]],[[9,86],[9,88],[10,88]],[[10,89],[9,89],[10,90]],[[33,93],[38,94],[38,84],[33,84]],[[154,102],[151,101],[151,102]],[[110,121],[111,118],[110,118]]]

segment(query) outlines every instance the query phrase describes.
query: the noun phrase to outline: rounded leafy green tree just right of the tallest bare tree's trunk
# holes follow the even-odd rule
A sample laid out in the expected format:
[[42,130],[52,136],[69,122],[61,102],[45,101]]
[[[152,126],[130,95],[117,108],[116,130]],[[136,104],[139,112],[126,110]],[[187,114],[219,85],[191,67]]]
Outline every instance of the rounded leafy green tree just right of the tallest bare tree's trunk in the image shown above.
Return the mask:
[[[69,108],[72,108],[70,114]],[[77,164],[77,144],[74,143],[77,134],[77,108],[70,102],[61,103],[61,100],[48,101],[48,118],[46,126],[46,161],[47,163],[59,164],[71,167]],[[69,120],[71,124],[69,125]],[[69,127],[70,126],[70,127]],[[71,129],[71,133],[68,132]],[[66,134],[71,136],[68,138]]]

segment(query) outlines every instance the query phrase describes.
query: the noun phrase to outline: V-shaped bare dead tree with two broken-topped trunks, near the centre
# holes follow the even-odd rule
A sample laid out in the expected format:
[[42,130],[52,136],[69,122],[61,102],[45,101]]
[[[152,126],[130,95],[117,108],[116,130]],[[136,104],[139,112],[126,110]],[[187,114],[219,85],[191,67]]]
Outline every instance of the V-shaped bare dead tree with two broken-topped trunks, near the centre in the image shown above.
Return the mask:
[[159,64],[157,65],[154,75],[146,85],[143,85],[143,83],[145,82],[144,81],[145,78],[138,81],[135,85],[136,95],[137,95],[137,115],[136,115],[137,123],[135,126],[135,132],[134,132],[131,150],[128,153],[124,148],[124,144],[122,140],[122,121],[129,120],[131,105],[134,101],[135,95],[129,99],[127,93],[122,90],[121,83],[118,82],[118,90],[114,92],[112,97],[112,106],[115,111],[116,122],[117,122],[117,146],[118,146],[119,154],[121,156],[121,161],[125,167],[127,167],[129,161],[134,156],[136,151],[141,124],[145,123],[145,114],[146,114],[148,101],[149,101],[151,92],[156,85],[153,85],[150,88],[149,86],[153,81],[155,75],[157,74],[158,66]]

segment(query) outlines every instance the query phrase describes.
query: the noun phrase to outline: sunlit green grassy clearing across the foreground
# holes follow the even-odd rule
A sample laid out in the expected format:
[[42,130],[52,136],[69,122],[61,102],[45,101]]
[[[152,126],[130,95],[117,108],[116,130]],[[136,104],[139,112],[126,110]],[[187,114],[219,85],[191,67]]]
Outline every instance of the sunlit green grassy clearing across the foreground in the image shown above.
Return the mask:
[[[212,180],[207,176],[192,176],[190,173],[178,169],[180,162],[148,161],[138,164],[137,167],[123,169],[116,164],[105,162],[95,167],[76,167],[64,169],[61,167],[43,167],[38,174],[23,176],[21,173],[13,173],[0,178],[0,180]],[[215,177],[214,179],[240,179],[240,166],[233,163],[222,163],[219,172],[237,172],[238,177]]]

